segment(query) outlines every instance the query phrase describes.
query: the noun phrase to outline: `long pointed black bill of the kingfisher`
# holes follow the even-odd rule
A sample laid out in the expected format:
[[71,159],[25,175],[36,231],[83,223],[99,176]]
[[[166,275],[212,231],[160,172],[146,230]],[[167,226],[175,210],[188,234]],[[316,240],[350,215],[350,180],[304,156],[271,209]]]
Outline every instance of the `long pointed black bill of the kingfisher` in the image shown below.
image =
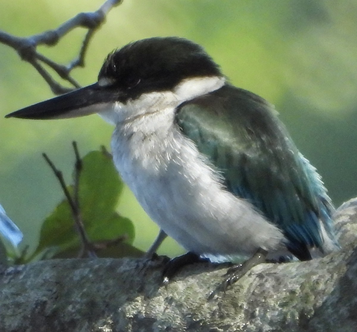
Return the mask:
[[115,89],[95,83],[25,107],[5,117],[45,120],[84,116],[106,110],[109,104],[117,100],[117,97],[118,92]]

